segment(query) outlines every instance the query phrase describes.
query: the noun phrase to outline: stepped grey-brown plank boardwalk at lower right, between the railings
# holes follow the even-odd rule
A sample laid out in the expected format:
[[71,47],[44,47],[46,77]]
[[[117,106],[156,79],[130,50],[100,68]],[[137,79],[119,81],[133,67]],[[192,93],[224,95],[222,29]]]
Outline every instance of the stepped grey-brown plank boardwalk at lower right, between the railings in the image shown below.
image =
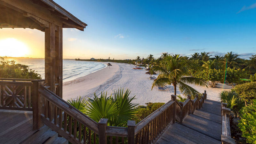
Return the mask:
[[157,144],[221,143],[221,103],[205,100],[201,110],[189,114],[182,124],[170,125]]

